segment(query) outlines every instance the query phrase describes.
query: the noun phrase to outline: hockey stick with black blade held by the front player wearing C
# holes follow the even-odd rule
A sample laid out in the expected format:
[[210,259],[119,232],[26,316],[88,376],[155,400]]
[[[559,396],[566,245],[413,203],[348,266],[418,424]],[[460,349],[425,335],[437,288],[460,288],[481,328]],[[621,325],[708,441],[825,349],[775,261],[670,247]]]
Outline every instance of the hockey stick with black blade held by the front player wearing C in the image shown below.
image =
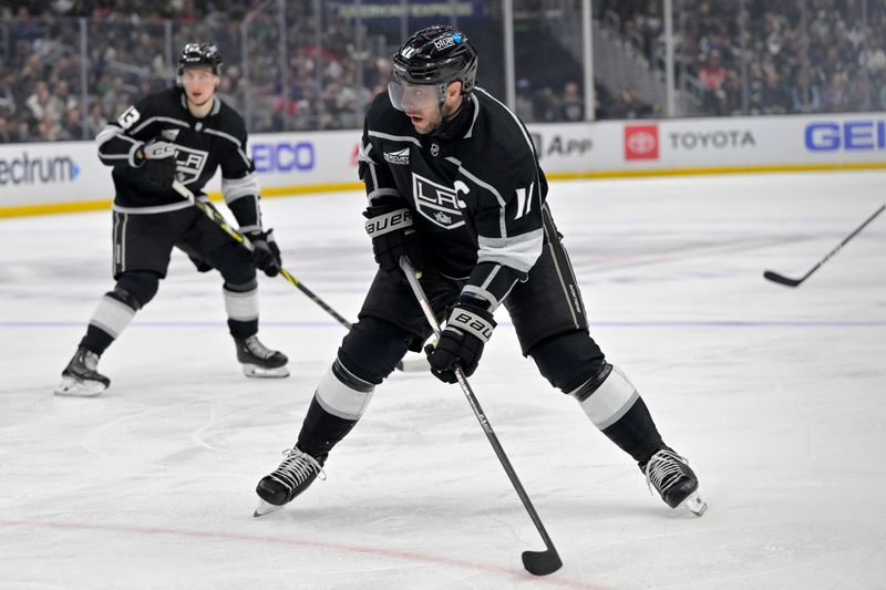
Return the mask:
[[[434,335],[440,339],[440,323],[436,321],[436,318],[434,318],[434,312],[431,310],[431,303],[427,302],[427,297],[424,294],[424,290],[419,283],[415,269],[412,267],[406,257],[402,257],[400,259],[400,268],[402,268],[403,272],[406,275],[406,280],[409,281],[410,287],[412,287],[412,292],[415,293],[415,299],[419,301],[419,306],[422,308],[422,312],[424,312],[427,323],[431,324]],[[538,532],[542,535],[542,539],[545,541],[545,547],[547,549],[544,551],[523,552],[523,566],[526,568],[526,571],[534,576],[547,576],[548,573],[554,573],[563,566],[560,556],[557,553],[557,549],[554,548],[554,542],[552,542],[550,537],[548,537],[545,526],[542,524],[542,519],[538,517],[538,513],[535,511],[533,503],[529,500],[529,496],[527,496],[526,490],[523,489],[523,484],[519,483],[519,478],[514,472],[514,467],[511,465],[511,460],[507,458],[505,449],[502,448],[498,437],[495,436],[495,432],[492,429],[492,424],[490,424],[490,421],[486,418],[486,414],[484,414],[483,408],[480,407],[480,402],[477,402],[477,398],[474,395],[471,385],[467,383],[467,379],[464,376],[464,372],[462,371],[461,366],[455,366],[455,377],[459,380],[459,385],[462,386],[464,396],[467,397],[467,403],[471,404],[474,415],[476,415],[477,421],[480,421],[483,432],[486,433],[486,438],[490,439],[492,447],[495,449],[495,454],[498,456],[502,467],[505,468],[507,477],[511,479],[511,484],[514,486],[514,489],[516,489],[517,496],[519,496],[519,499],[523,501],[523,506],[526,508],[526,511],[529,513],[529,518],[532,518],[533,522],[535,524],[535,528],[538,529]]]

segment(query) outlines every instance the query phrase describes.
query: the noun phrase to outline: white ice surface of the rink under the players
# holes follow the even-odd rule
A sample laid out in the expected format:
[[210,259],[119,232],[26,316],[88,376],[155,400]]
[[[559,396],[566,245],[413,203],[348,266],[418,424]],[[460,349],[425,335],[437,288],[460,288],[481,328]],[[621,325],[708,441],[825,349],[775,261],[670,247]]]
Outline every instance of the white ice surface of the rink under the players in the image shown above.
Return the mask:
[[[650,497],[631,459],[523,359],[506,314],[471,383],[564,567],[457,386],[395,373],[326,482],[251,517],[344,334],[261,279],[287,380],[247,380],[220,280],[176,253],[105,353],[111,389],[52,395],[112,287],[109,213],[0,220],[0,589],[886,587],[886,174],[557,183],[593,319],[710,504]],[[285,266],[356,318],[374,271],[359,193],[270,199]],[[544,312],[544,310],[539,310]]]

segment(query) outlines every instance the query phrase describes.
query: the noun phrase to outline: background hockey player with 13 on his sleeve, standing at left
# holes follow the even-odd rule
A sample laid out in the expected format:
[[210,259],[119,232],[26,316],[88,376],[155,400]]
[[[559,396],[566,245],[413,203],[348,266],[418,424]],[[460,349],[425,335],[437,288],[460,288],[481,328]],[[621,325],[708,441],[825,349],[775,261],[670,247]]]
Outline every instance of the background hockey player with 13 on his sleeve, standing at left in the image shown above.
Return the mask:
[[[166,277],[173,247],[198,270],[217,269],[237,360],[247,376],[285,377],[285,354],[266,348],[258,332],[256,268],[274,277],[280,250],[261,225],[255,166],[246,153],[243,118],[215,96],[222,55],[210,43],[188,43],[178,58],[177,85],[145,96],[99,133],[99,157],[113,166],[113,272],[86,334],[62,372],[58,395],[97,395],[110,380],[99,358]],[[249,252],[173,189],[178,179],[206,200],[204,185],[222,167],[222,193],[255,245]]]

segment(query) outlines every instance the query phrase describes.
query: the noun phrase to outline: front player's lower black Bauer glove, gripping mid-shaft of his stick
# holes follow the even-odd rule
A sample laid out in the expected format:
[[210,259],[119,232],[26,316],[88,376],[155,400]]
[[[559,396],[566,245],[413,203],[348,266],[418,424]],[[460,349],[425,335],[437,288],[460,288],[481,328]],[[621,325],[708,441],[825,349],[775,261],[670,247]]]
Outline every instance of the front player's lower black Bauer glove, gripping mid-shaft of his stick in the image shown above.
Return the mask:
[[465,376],[473,374],[495,325],[488,311],[470,303],[459,303],[452,310],[436,346],[427,344],[424,348],[431,373],[444,383],[459,381],[455,366],[461,366]]

